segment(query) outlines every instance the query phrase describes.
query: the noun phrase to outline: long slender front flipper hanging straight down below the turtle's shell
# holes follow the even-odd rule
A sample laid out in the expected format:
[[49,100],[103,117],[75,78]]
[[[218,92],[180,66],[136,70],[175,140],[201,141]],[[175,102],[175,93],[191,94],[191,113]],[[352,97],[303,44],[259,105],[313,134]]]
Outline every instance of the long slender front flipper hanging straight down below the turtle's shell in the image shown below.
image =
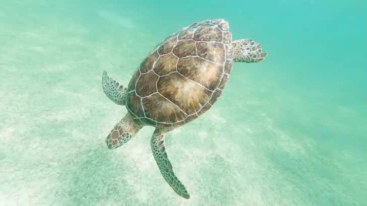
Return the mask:
[[164,147],[164,135],[169,130],[163,130],[156,128],[154,130],[150,145],[154,159],[158,165],[158,168],[166,182],[172,189],[181,197],[186,199],[190,198],[185,186],[177,179],[172,170],[172,165],[168,160],[167,153]]

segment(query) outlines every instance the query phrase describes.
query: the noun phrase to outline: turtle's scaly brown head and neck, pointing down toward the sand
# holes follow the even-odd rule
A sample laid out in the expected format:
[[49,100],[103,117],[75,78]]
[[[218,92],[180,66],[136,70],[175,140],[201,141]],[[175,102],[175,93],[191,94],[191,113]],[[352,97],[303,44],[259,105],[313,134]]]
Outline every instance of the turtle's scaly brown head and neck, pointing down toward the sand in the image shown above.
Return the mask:
[[128,112],[107,135],[106,144],[108,149],[116,149],[127,143],[138,132],[143,125],[133,119]]

